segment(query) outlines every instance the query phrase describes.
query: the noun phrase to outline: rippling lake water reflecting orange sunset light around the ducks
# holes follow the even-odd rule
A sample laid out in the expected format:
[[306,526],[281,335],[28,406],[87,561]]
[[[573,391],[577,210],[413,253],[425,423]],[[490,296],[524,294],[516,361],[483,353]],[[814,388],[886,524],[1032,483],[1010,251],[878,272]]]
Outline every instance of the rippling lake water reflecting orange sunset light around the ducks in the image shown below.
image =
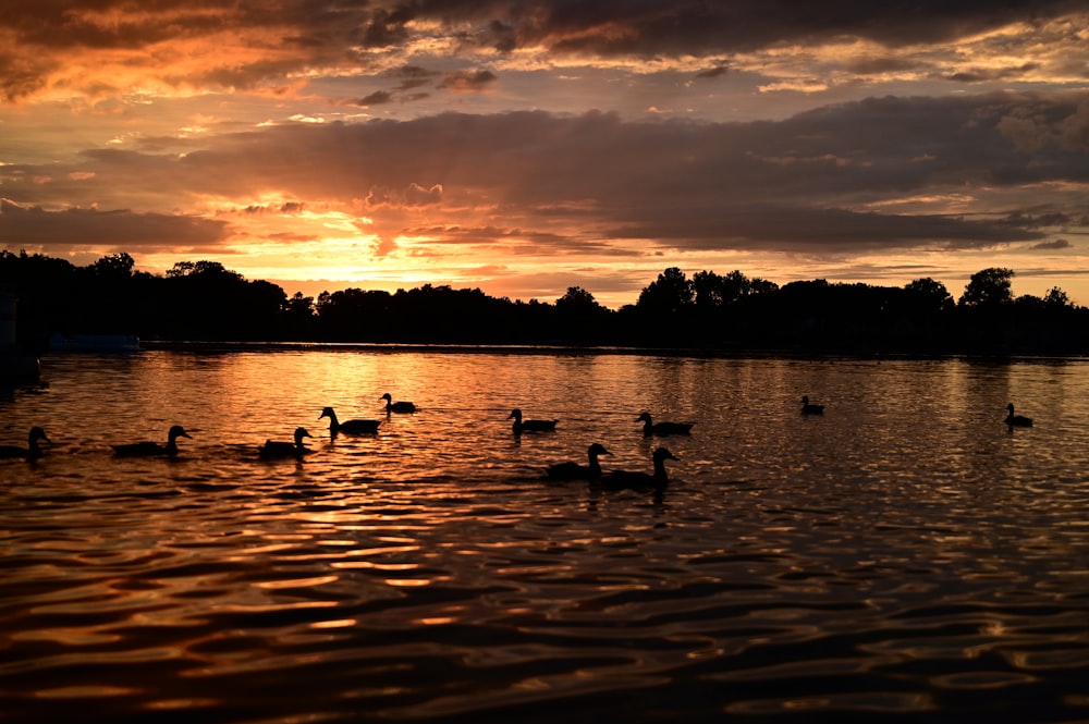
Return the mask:
[[[1086,360],[194,347],[42,379],[0,400],[0,442],[52,440],[0,461],[2,722],[1089,721]],[[175,424],[176,459],[112,455]],[[305,461],[258,458],[298,426]],[[664,444],[669,488],[544,478],[592,442]]]

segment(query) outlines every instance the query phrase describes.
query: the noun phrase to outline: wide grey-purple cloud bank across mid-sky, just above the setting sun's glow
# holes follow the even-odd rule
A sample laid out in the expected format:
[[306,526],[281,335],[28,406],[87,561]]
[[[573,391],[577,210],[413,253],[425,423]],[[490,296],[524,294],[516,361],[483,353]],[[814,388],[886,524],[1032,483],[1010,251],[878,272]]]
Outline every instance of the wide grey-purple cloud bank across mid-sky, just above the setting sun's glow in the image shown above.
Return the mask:
[[[694,250],[983,248],[1039,241],[1041,229],[1084,216],[1084,201],[1064,208],[1055,196],[1048,208],[1033,201],[987,214],[979,207],[970,217],[891,212],[882,204],[905,195],[1089,183],[1086,152],[1072,152],[1062,135],[1081,118],[1085,99],[874,98],[754,123],[525,111],[282,125],[211,137],[184,156],[95,150],[77,169],[9,167],[22,181],[7,187],[24,204],[49,208],[90,198],[120,205],[146,196],[148,177],[158,180],[156,193],[171,204],[258,198],[278,188],[289,198],[325,204],[365,199],[376,223],[401,224],[387,228],[391,233],[411,225],[397,221],[409,210],[435,209],[452,224],[472,220],[465,228],[482,228],[477,214],[488,213],[501,220],[498,228],[518,229],[554,249],[575,249],[592,237]],[[1004,123],[1011,118],[1030,120],[1051,140],[1027,149],[1011,137]],[[32,181],[76,171],[84,181]],[[101,226],[111,218],[84,213]],[[185,217],[124,212],[114,219],[129,230],[124,238],[136,238],[137,222],[146,237],[166,236],[166,229],[208,238],[222,232]],[[12,223],[7,214],[5,223]],[[577,234],[568,231],[576,228]]]

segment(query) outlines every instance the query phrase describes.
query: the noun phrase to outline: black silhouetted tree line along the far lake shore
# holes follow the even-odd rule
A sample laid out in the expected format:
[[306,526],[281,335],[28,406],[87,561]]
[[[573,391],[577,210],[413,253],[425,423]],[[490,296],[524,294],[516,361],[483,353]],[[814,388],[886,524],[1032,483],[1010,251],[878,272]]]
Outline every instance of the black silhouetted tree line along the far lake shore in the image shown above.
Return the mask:
[[671,267],[634,304],[613,310],[572,286],[554,303],[425,284],[395,293],[346,289],[289,297],[218,261],[180,261],[163,275],[129,254],[86,267],[0,251],[0,286],[19,298],[19,336],[135,334],[162,341],[596,345],[710,351],[902,354],[1085,354],[1089,309],[1053,287],[1014,296],[1015,272],[983,269],[959,299],[930,278],[904,286],[780,286],[741,271]]

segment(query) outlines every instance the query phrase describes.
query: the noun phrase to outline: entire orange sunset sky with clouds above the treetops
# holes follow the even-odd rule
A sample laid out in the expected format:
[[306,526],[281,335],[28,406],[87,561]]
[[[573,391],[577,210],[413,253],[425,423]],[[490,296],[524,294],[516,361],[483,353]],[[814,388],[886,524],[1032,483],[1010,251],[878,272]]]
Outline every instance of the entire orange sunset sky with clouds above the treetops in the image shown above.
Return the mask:
[[666,267],[1089,305],[1084,0],[3,0],[0,248],[291,295]]

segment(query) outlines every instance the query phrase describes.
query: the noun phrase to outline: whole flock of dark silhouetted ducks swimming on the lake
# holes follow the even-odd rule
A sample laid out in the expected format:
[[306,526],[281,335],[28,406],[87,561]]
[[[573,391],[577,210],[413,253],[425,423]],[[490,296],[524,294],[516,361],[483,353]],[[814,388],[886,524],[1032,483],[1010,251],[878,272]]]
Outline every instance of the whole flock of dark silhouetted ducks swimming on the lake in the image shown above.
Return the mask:
[[[417,410],[416,405],[411,402],[394,402],[392,395],[389,393],[383,394],[380,400],[386,402],[387,416],[393,413],[413,414]],[[1006,412],[1005,422],[1011,428],[1032,427],[1031,418],[1014,414],[1013,403],[1006,405]],[[803,396],[802,414],[807,416],[823,415],[824,405],[810,403],[808,396]],[[321,415],[318,416],[318,419],[321,420],[323,418],[329,418],[329,434],[331,437],[335,437],[341,433],[348,435],[374,434],[378,432],[378,427],[381,425],[380,420],[374,419],[352,419],[341,421],[337,417],[337,413],[332,407],[326,407],[321,410]],[[525,419],[522,415],[522,410],[518,408],[512,409],[506,419],[514,420],[511,429],[515,435],[519,435],[523,432],[552,432],[555,430],[555,426],[559,422],[559,420],[554,419]],[[646,437],[690,434],[692,428],[694,427],[693,422],[654,422],[650,413],[640,414],[639,417],[636,418],[636,421],[643,422],[643,433]],[[295,430],[293,441],[286,442],[266,440],[265,443],[257,449],[257,454],[262,459],[301,459],[303,456],[314,452],[305,444],[305,439],[313,437],[314,435],[311,435],[306,428],[299,427]],[[189,438],[189,434],[182,426],[175,425],[171,427],[167,433],[166,444],[142,441],[111,445],[111,447],[113,449],[113,454],[117,457],[173,457],[178,455],[179,438]],[[26,447],[22,447],[20,445],[0,445],[0,458],[23,458],[26,461],[35,461],[45,455],[45,451],[40,444],[42,441],[50,442],[45,430],[35,426],[30,428],[29,434],[27,435]],[[603,445],[600,443],[594,443],[587,450],[587,465],[582,465],[575,462],[556,463],[548,466],[546,468],[546,473],[552,480],[588,480],[591,482],[599,482],[605,487],[651,488],[662,490],[669,482],[669,475],[665,470],[665,461],[680,459],[668,449],[657,447],[652,455],[652,473],[633,470],[610,470],[609,473],[604,473],[601,469],[599,457],[601,455],[609,454],[609,451],[605,450]]]

